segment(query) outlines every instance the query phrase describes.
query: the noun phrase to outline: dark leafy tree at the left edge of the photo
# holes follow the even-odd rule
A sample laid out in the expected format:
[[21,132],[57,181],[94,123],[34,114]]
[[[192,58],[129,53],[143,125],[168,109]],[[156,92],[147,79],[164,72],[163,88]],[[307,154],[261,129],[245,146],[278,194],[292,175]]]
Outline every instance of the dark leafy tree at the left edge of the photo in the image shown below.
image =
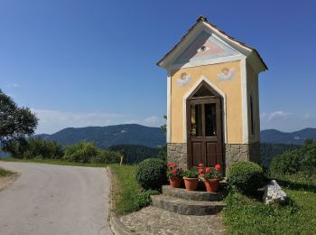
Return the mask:
[[14,142],[23,143],[31,136],[37,127],[38,119],[30,108],[19,108],[11,97],[0,89],[0,145],[6,152],[5,146]]

